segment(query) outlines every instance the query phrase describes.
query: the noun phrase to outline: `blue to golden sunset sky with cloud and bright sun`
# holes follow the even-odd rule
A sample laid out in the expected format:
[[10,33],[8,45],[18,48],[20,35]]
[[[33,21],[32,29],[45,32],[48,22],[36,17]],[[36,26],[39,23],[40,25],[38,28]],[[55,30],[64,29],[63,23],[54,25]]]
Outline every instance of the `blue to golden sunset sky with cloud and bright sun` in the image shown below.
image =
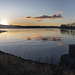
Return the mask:
[[75,0],[0,0],[0,24],[60,26],[75,22]]

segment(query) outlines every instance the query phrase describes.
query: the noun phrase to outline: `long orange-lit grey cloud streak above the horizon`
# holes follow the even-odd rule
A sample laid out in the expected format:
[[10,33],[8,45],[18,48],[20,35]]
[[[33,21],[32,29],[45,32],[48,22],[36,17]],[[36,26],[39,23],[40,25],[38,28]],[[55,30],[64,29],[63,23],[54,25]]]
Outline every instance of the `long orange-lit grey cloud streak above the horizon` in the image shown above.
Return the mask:
[[[32,19],[32,20],[36,20],[36,21],[41,21],[42,19],[60,19],[60,18],[63,18],[61,16],[62,13],[63,12],[58,12],[58,14],[55,14],[52,16],[49,16],[49,15],[41,15],[41,16],[37,16],[37,17],[27,16],[27,17],[24,17],[22,19]],[[21,19],[21,18],[18,18],[18,19]]]

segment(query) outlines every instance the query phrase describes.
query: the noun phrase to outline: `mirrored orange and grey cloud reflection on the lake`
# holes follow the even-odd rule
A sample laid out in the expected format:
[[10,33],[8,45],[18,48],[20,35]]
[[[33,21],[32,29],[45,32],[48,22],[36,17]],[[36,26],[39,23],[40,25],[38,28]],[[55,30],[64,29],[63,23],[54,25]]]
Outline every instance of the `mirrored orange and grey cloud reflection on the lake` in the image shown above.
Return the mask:
[[61,46],[62,43],[62,37],[52,37],[52,36],[26,36],[24,38],[18,37],[18,39],[24,39],[24,40],[34,40],[34,41],[40,41],[40,42],[47,42],[47,41],[54,41],[56,45]]

